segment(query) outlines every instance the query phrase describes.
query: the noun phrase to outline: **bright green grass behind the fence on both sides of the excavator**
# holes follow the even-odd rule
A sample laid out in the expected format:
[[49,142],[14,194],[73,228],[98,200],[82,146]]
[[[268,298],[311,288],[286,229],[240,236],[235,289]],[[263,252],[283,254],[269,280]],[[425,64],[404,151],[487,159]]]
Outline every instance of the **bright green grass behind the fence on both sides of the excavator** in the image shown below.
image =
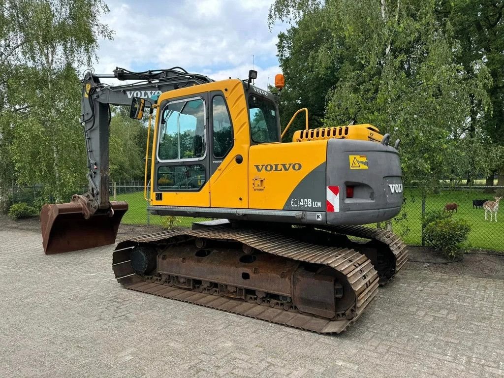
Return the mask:
[[[403,205],[402,213],[406,214],[406,218],[395,220],[393,228],[395,232],[403,237],[406,243],[420,245],[422,241],[422,199],[420,191],[406,188],[404,196],[406,197],[406,204]],[[498,214],[498,222],[485,221],[484,210],[472,208],[473,199],[493,200],[493,196],[483,194],[481,191],[442,191],[440,194],[427,196],[425,211],[443,210],[447,203],[457,203],[459,208],[456,213],[453,213],[453,217],[463,218],[471,225],[468,247],[504,251],[504,211]],[[146,201],[143,192],[118,195],[117,201],[126,201],[130,205],[130,210],[122,218],[123,223],[147,224]],[[399,218],[401,217],[398,216],[396,219]],[[204,220],[204,218],[177,217],[174,226],[190,227],[192,222],[198,220]],[[151,215],[150,224],[161,225],[161,217]]]

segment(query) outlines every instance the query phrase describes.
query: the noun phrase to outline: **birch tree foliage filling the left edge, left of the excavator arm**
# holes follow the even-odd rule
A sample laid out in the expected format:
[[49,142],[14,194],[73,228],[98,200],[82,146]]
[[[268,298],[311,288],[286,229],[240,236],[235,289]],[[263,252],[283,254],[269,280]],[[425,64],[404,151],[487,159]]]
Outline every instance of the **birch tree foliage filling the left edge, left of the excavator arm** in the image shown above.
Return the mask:
[[106,12],[103,0],[0,4],[0,186],[14,176],[61,201],[85,180],[77,68],[111,38]]

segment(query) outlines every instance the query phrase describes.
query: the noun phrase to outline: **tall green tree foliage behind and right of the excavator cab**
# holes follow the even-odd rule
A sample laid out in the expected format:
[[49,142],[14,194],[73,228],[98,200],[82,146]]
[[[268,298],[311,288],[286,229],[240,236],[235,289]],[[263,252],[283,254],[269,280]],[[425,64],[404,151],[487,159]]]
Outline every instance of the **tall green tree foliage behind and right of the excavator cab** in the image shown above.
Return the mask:
[[[276,0],[270,23],[292,25],[279,36],[281,112],[307,106],[314,126],[372,123],[391,133],[401,139],[405,180],[426,192],[440,178],[486,175],[500,161],[485,127],[498,65],[461,43],[466,20],[453,4]],[[483,17],[478,7],[472,17]]]

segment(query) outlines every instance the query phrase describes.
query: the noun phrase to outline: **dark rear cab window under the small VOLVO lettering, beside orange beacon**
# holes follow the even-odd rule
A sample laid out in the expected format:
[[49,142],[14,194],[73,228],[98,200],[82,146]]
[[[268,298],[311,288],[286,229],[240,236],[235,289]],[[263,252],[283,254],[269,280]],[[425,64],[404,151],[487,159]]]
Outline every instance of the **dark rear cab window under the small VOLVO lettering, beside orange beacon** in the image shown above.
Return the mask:
[[256,143],[279,142],[275,104],[266,98],[251,94],[248,96],[250,135]]

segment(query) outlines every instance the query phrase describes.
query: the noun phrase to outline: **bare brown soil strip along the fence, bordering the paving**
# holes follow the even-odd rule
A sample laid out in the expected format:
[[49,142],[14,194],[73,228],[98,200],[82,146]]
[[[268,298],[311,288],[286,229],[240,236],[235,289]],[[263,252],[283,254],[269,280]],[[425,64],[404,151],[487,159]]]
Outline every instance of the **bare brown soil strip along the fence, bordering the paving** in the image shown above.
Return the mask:
[[[13,220],[7,215],[0,213],[0,229],[9,228],[40,232],[40,221],[38,218]],[[121,224],[117,233],[117,241],[161,230],[163,230],[161,227]],[[504,280],[504,250],[502,254],[470,251],[458,262],[448,262],[430,247],[408,246],[408,250],[409,255],[406,269],[426,269],[432,273]]]

